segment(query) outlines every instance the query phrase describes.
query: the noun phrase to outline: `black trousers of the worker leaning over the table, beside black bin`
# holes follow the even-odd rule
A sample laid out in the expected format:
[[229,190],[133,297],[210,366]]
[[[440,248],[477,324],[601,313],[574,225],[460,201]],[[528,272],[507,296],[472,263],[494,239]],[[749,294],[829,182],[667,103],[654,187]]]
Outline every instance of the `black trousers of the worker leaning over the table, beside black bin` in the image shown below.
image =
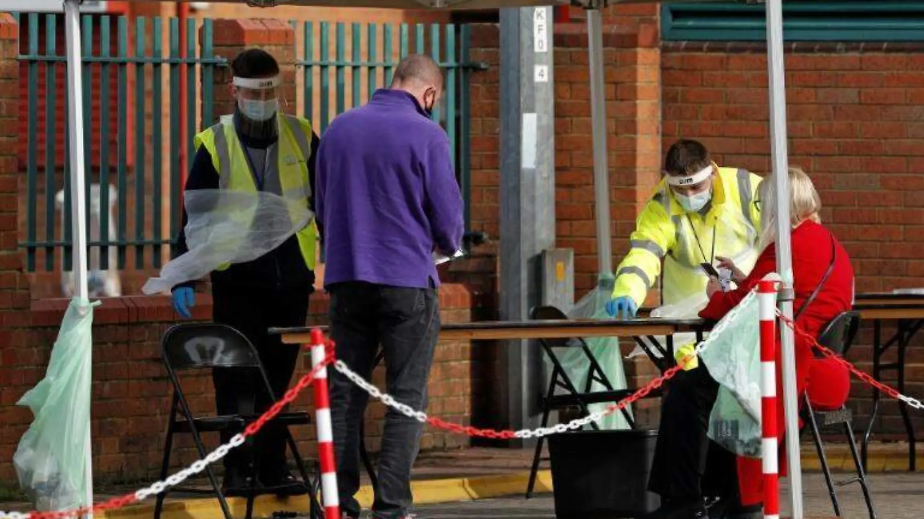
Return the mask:
[[669,382],[661,407],[650,491],[666,501],[718,497],[739,503],[736,456],[706,434],[719,383],[699,363]]

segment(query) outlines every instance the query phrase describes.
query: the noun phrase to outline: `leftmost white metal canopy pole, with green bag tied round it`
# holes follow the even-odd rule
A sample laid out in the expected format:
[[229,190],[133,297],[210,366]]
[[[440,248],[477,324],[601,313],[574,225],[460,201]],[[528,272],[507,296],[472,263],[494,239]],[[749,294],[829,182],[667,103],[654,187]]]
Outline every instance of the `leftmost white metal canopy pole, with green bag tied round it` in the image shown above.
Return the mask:
[[[64,0],[65,41],[67,46],[67,135],[70,139],[71,179],[70,194],[73,214],[74,243],[73,243],[73,270],[74,270],[74,296],[84,303],[88,301],[87,290],[87,199],[84,191],[84,162],[83,156],[83,81],[81,78],[80,63],[80,0]],[[85,311],[91,311],[89,305]],[[88,416],[89,413],[88,413]],[[87,420],[90,428],[90,420]],[[86,456],[87,502],[85,506],[93,504],[93,458],[90,442],[90,430],[87,431],[87,441],[84,445]],[[86,517],[91,518],[92,513]]]

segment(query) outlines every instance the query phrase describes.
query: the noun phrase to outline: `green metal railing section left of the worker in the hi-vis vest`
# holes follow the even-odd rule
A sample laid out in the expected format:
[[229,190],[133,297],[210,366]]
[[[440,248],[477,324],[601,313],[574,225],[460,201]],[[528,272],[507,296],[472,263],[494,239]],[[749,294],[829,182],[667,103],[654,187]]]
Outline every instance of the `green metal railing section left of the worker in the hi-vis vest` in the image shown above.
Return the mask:
[[[63,249],[63,267],[70,270],[70,248],[66,247],[71,244],[67,65],[62,19],[34,13],[20,14],[17,18],[20,39],[26,40],[26,53],[20,54],[18,59],[20,70],[26,72],[26,99],[23,101],[28,105],[27,144],[24,152],[20,152],[20,167],[24,166],[27,173],[26,239],[19,245],[26,249],[30,272],[37,270],[40,259],[43,259],[44,271],[54,271],[57,249]],[[95,228],[90,227],[88,207],[88,228],[98,236],[91,239],[88,246],[99,247],[101,269],[110,268],[110,247],[116,248],[119,270],[127,268],[130,252],[133,252],[135,268],[159,268],[164,246],[170,244],[179,230],[176,208],[181,189],[181,157],[191,157],[192,136],[200,127],[195,103],[189,103],[186,120],[180,120],[181,89],[184,87],[180,84],[181,69],[186,69],[190,79],[185,85],[188,99],[195,100],[197,69],[211,79],[213,67],[226,64],[224,58],[213,56],[211,39],[205,39],[201,46],[197,44],[196,20],[190,18],[186,22],[186,38],[180,42],[180,20],[177,18],[129,20],[92,15],[81,18],[81,102],[88,204],[91,184],[101,186],[98,196],[101,211]],[[204,20],[203,25],[206,30],[211,29],[212,20]],[[183,57],[181,48],[190,57]],[[40,72],[43,73],[42,82]],[[164,77],[168,79],[166,88]],[[203,99],[203,107],[205,116],[211,117],[211,89],[207,93],[210,97]],[[165,107],[169,110],[165,111]],[[40,115],[43,117],[41,126]],[[164,116],[169,128],[166,132]],[[184,124],[188,139],[180,142],[180,127]],[[168,142],[164,142],[165,139]],[[114,174],[117,207],[111,216],[107,187],[113,182]],[[169,176],[164,179],[164,175]],[[40,178],[43,179],[41,185]],[[63,204],[56,207],[55,193],[59,187],[63,189]],[[164,203],[169,205],[164,207]],[[61,211],[60,218],[55,218],[56,209]],[[166,230],[165,209],[169,210]],[[43,216],[43,225],[38,222],[40,216]],[[115,225],[111,225],[111,219],[116,221]],[[56,224],[58,222],[60,225]],[[114,233],[109,232],[111,227]]]

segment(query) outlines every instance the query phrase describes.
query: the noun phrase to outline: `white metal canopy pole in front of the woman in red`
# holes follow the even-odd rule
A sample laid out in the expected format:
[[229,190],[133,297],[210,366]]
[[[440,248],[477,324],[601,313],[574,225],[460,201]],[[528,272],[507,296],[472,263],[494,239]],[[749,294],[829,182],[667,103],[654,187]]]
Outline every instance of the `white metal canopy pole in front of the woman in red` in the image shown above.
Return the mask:
[[[776,269],[787,287],[793,286],[790,243],[789,161],[786,151],[786,85],[783,54],[783,1],[767,0],[767,70],[770,78],[770,140],[773,178],[776,184]],[[792,319],[792,297],[781,297],[780,310]],[[792,519],[802,519],[802,460],[799,457],[796,352],[793,331],[780,327],[783,347],[783,403],[786,419],[786,458]]]

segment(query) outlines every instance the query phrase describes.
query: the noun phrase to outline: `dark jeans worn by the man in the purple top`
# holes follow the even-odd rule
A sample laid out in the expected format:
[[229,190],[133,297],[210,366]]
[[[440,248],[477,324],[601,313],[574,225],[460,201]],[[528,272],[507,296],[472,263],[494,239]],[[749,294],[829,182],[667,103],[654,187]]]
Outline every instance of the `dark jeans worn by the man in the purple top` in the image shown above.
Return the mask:
[[[342,283],[331,293],[331,337],[336,356],[366,380],[379,344],[385,360],[385,391],[416,410],[427,405],[427,380],[440,331],[434,288],[398,288]],[[331,416],[341,509],[359,516],[359,423],[368,394],[335,370],[330,373]],[[380,517],[403,517],[412,503],[410,469],[419,451],[423,424],[391,408],[385,414],[378,485],[372,510]]]

